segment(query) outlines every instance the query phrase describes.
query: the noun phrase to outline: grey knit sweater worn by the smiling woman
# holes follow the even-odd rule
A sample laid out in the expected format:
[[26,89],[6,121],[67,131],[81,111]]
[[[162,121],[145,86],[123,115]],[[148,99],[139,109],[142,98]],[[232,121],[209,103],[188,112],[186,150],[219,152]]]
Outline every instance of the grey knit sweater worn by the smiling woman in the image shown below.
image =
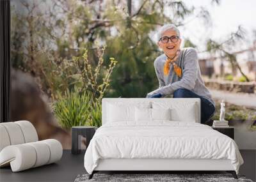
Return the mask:
[[173,66],[170,64],[170,72],[164,75],[163,68],[167,57],[165,54],[157,57],[154,61],[159,88],[147,94],[147,98],[155,93],[161,93],[163,97],[173,95],[173,92],[179,88],[186,88],[197,95],[207,98],[215,106],[212,100],[211,93],[205,87],[202,80],[200,67],[198,63],[197,52],[194,48],[188,47],[181,49],[179,57],[175,63],[182,69],[182,76],[178,77],[173,71]]

